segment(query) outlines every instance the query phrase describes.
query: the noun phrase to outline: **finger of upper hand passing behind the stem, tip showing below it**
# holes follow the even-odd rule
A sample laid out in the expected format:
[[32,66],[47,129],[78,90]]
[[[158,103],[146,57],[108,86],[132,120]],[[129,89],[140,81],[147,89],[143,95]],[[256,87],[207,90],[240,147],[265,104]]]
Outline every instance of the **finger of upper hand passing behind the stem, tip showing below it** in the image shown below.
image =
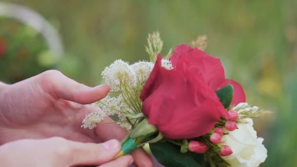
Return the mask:
[[[111,121],[113,120],[106,117],[103,122]],[[95,133],[102,141],[110,139],[123,140],[128,134],[125,129],[116,124],[98,124],[95,128]],[[142,148],[135,149],[131,155],[133,156],[134,164],[137,167],[153,167],[150,157]]]

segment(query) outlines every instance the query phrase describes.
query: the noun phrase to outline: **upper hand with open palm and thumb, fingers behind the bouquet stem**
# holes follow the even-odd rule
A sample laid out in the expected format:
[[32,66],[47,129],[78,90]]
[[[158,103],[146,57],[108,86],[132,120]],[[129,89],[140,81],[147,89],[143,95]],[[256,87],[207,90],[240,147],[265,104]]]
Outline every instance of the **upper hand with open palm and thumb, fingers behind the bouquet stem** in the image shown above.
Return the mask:
[[[107,85],[88,87],[56,70],[5,85],[0,92],[0,144],[53,136],[91,143],[122,140],[127,132],[118,125],[99,124],[91,130],[81,128],[85,115],[100,111],[84,104],[94,103],[108,92]],[[110,121],[110,118],[105,121]],[[139,148],[132,156],[138,167],[152,167],[144,150]]]

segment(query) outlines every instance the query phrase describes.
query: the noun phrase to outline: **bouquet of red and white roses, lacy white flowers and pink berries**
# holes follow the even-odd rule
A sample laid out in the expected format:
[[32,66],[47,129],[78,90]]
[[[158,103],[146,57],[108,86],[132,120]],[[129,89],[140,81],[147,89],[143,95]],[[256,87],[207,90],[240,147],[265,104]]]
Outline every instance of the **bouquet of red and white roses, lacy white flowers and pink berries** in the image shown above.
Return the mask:
[[102,72],[109,95],[105,114],[85,117],[94,128],[105,115],[129,131],[117,157],[149,144],[166,167],[258,167],[267,157],[253,128],[267,110],[246,103],[242,86],[225,78],[220,59],[207,55],[206,37],[181,44],[164,58],[158,32],[148,35],[150,62],[116,60]]

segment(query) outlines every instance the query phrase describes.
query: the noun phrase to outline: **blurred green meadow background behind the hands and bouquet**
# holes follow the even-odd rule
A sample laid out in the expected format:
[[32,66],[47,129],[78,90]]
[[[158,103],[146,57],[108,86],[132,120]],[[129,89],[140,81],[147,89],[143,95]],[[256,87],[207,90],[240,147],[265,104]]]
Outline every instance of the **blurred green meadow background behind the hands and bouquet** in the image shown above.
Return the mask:
[[116,59],[148,60],[148,33],[160,32],[163,55],[207,35],[206,52],[220,58],[227,77],[243,85],[249,104],[274,111],[255,120],[268,149],[262,167],[297,167],[297,0],[1,2],[39,13],[63,44],[62,54],[53,52],[42,33],[4,16],[16,11],[0,3],[0,81],[11,84],[54,68],[95,86],[103,82],[101,71]]

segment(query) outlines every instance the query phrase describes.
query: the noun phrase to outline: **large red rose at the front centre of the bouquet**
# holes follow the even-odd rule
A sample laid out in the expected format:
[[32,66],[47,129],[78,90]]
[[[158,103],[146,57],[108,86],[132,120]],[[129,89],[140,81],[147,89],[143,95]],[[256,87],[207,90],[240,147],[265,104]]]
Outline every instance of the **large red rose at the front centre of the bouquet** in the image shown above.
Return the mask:
[[[143,113],[148,123],[156,125],[168,139],[199,137],[210,132],[215,122],[228,113],[209,86],[210,78],[205,79],[206,69],[191,65],[190,59],[176,60],[174,68],[167,70],[161,67],[158,55],[140,95]],[[211,64],[209,61],[213,62],[209,58],[205,64]],[[221,74],[216,70],[213,73]]]

